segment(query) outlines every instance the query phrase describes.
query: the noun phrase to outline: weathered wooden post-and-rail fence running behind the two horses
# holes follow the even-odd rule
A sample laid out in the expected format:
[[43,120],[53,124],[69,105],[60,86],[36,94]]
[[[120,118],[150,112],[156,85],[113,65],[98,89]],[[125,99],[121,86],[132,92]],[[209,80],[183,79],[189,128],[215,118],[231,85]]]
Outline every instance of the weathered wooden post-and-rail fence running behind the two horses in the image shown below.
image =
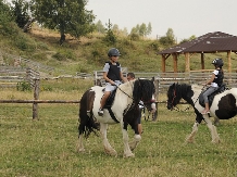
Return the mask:
[[[10,69],[11,71],[11,69]],[[0,103],[33,103],[33,119],[38,118],[38,104],[39,103],[79,103],[78,100],[39,100],[39,81],[40,77],[37,72],[34,72],[32,69],[26,69],[26,71],[14,71],[13,73],[15,74],[15,77],[10,77],[11,73],[8,69],[0,69],[0,80],[7,79],[7,80],[15,80],[21,81],[22,79],[28,79],[32,80],[32,86],[34,87],[34,100],[0,100]],[[9,75],[7,75],[8,73]],[[126,71],[124,72],[124,75],[126,75]],[[5,75],[3,75],[5,74]],[[22,75],[21,75],[22,74]],[[25,75],[26,76],[25,76]],[[157,108],[158,103],[166,103],[165,101],[159,101],[159,93],[166,92],[167,88],[170,87],[171,84],[173,83],[186,83],[186,84],[204,84],[207,83],[208,79],[211,77],[211,72],[190,72],[190,73],[135,73],[136,78],[152,78],[154,77],[155,81],[155,100],[157,100]],[[95,85],[102,85],[102,71],[95,72],[93,74],[93,81]],[[77,78],[88,78],[90,75],[88,74],[82,74]],[[11,79],[10,79],[11,78]],[[75,77],[74,77],[75,78]],[[225,74],[225,84],[227,87],[237,87],[237,73],[226,73]],[[152,115],[152,119],[155,121],[158,117],[158,113]]]

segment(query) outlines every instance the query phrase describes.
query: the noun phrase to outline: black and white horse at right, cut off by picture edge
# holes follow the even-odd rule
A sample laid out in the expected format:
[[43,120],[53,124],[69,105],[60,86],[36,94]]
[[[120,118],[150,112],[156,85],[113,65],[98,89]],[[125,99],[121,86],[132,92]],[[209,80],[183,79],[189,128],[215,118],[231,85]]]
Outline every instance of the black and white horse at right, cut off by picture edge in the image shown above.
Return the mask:
[[[173,110],[184,99],[191,104],[196,113],[196,122],[192,126],[192,131],[187,138],[187,142],[194,142],[195,136],[198,131],[198,125],[204,121],[209,127],[212,136],[212,142],[219,143],[220,137],[216,127],[212,124],[210,117],[219,119],[229,119],[237,114],[237,88],[223,90],[215,94],[210,106],[210,114],[202,115],[204,109],[200,93],[203,91],[203,86],[173,84],[167,90],[167,109]],[[200,98],[200,99],[199,99]]]

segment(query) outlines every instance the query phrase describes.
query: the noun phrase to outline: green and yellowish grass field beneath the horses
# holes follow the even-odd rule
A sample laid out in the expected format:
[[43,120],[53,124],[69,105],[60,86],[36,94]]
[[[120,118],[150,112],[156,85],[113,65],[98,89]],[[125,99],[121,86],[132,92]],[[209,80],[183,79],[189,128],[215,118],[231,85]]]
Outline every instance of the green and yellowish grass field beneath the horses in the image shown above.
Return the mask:
[[[75,91],[42,91],[41,99],[78,99]],[[32,99],[32,92],[0,90],[0,99]],[[160,97],[165,99],[165,96]],[[188,105],[179,105],[185,110]],[[76,152],[78,104],[39,104],[39,119],[32,119],[32,104],[0,104],[1,177],[236,177],[237,118],[217,126],[222,142],[211,143],[204,124],[195,143],[186,143],[195,123],[192,109],[167,111],[159,104],[157,122],[144,121],[135,157],[123,159],[120,125],[109,126],[108,138],[118,155],[103,152],[99,137],[85,140]],[[133,130],[128,130],[133,138]]]

